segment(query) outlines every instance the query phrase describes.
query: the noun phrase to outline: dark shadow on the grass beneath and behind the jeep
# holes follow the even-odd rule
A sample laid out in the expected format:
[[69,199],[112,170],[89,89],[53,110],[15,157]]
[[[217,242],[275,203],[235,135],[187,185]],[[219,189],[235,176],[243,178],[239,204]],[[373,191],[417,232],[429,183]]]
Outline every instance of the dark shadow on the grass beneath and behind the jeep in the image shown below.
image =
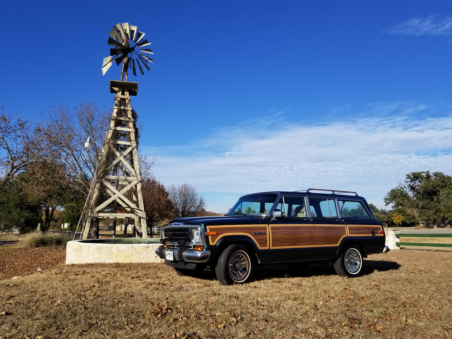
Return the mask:
[[[387,260],[364,260],[360,276],[366,276],[377,272],[386,272],[400,268],[400,264]],[[253,281],[261,281],[273,278],[315,277],[325,275],[337,275],[332,263],[306,264],[299,269],[289,269],[286,265],[258,266],[254,268]],[[206,269],[199,277],[206,280],[216,280],[215,270]]]

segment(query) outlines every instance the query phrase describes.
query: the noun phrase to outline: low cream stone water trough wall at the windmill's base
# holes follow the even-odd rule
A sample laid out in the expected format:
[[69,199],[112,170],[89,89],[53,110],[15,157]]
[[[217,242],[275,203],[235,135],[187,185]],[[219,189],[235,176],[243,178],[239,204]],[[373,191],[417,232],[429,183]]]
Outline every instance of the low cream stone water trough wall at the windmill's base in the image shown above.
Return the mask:
[[66,246],[66,265],[92,263],[162,263],[155,254],[160,239],[72,240]]

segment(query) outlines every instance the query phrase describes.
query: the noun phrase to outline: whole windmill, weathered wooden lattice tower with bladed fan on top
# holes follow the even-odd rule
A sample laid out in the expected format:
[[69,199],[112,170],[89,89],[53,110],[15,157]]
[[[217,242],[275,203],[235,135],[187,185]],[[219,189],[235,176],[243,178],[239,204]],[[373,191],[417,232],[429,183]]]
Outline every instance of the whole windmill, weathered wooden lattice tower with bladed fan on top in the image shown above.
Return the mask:
[[[104,140],[103,153],[96,168],[91,190],[82,213],[84,217],[83,239],[93,238],[97,233],[99,218],[132,218],[135,220],[137,237],[147,238],[146,213],[141,193],[141,175],[138,166],[137,115],[130,105],[130,96],[137,95],[138,83],[127,81],[127,71],[136,66],[144,75],[142,66],[149,71],[151,45],[143,40],[144,33],[137,26],[116,24],[109,33],[110,56],[104,59],[102,73],[113,61],[122,64],[121,80],[110,80],[110,93],[115,93],[113,114]],[[141,63],[140,63],[141,61]],[[125,80],[125,81],[124,81]],[[88,138],[85,147],[90,147]],[[127,227],[127,224],[126,224]]]

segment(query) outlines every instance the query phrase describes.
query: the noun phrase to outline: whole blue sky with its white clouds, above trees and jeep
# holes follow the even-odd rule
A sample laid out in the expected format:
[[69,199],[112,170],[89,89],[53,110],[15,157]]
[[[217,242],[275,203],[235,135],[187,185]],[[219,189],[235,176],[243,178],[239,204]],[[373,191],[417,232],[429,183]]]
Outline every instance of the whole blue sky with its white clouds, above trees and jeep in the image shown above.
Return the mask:
[[141,150],[214,212],[310,187],[384,207],[411,171],[452,174],[450,2],[16,1],[1,17],[1,106],[29,120],[111,106],[108,32],[145,32],[154,64],[129,77]]

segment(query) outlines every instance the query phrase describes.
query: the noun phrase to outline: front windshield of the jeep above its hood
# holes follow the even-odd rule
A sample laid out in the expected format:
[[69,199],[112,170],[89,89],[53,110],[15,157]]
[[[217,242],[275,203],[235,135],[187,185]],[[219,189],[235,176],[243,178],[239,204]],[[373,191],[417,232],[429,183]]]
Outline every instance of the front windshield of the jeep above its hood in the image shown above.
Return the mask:
[[237,215],[237,214],[260,214],[268,215],[268,211],[273,206],[273,203],[278,197],[277,193],[264,193],[255,194],[247,197],[240,198],[238,202],[235,203],[229,212],[226,213],[227,216]]

